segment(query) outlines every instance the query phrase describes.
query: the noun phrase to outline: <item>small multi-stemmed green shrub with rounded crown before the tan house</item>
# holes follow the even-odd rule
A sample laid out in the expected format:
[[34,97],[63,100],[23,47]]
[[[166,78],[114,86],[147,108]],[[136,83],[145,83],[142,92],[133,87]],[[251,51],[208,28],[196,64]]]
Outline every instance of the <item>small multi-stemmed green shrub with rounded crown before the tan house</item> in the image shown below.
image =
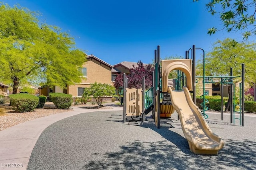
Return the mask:
[[102,84],[95,82],[87,88],[89,88],[89,90],[85,88],[86,92],[89,92],[90,95],[93,96],[99,106],[102,106],[102,101],[104,99],[106,99],[107,97],[113,97],[116,94],[115,87],[106,83]]

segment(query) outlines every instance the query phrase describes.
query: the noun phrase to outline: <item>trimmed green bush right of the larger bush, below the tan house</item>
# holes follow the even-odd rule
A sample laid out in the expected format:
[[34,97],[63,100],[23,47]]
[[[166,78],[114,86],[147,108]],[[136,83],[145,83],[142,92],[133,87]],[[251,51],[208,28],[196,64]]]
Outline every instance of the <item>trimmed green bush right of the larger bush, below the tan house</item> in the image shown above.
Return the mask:
[[64,93],[49,93],[49,97],[58,109],[69,109],[72,105],[72,95]]

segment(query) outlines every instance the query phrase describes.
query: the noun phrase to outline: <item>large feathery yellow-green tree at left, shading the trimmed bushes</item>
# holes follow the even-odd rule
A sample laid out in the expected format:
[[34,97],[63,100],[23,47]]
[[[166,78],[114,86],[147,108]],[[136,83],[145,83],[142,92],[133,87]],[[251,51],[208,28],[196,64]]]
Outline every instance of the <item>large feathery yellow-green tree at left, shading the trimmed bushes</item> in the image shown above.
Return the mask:
[[39,80],[41,85],[66,87],[80,82],[84,52],[60,28],[40,23],[26,8],[0,6],[0,81],[13,85]]

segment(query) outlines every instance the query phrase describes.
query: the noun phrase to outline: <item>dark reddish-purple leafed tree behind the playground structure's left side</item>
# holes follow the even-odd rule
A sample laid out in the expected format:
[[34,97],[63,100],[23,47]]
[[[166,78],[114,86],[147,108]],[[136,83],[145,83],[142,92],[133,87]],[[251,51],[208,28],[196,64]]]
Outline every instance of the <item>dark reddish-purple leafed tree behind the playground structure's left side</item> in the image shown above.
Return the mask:
[[[142,78],[145,77],[145,89],[152,87],[152,71],[153,67],[151,64],[143,64],[142,61],[138,61],[138,65],[133,66],[130,69],[130,73],[126,75],[129,80],[129,88],[142,88]],[[124,75],[120,73],[116,76],[114,87],[118,89],[123,86]]]

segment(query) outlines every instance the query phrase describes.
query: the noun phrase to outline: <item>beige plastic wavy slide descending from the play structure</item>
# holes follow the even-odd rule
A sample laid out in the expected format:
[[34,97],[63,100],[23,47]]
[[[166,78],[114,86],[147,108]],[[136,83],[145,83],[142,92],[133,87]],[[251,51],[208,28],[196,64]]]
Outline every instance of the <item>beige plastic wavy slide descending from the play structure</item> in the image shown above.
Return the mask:
[[174,109],[178,112],[183,133],[191,152],[195,154],[218,154],[224,142],[212,132],[200,109],[194,104],[186,87],[173,91],[168,87]]

